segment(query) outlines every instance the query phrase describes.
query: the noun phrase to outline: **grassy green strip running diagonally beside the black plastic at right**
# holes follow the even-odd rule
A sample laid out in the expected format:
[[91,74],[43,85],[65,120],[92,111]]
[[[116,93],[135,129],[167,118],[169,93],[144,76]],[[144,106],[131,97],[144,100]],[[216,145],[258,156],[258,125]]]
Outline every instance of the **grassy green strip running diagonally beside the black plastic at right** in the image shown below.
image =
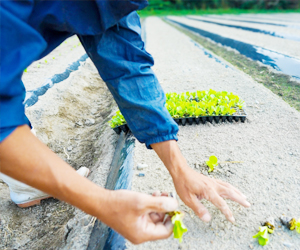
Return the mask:
[[291,81],[290,76],[271,72],[268,67],[263,66],[244,55],[235,53],[234,51],[229,51],[225,47],[219,46],[205,37],[196,35],[187,29],[179,27],[166,20],[164,21],[189,36],[195,42],[201,44],[204,48],[225,59],[239,70],[250,75],[255,81],[263,84],[273,93],[280,96],[290,106],[300,111],[300,84],[295,81]]

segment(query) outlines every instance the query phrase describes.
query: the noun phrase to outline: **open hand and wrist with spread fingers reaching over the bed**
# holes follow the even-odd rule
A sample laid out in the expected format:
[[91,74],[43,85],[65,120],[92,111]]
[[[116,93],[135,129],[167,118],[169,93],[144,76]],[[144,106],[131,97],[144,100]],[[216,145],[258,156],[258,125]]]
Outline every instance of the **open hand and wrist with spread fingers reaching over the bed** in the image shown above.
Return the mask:
[[234,217],[223,198],[238,202],[244,207],[250,207],[245,195],[232,185],[206,177],[191,169],[174,140],[151,144],[157,155],[169,170],[176,191],[181,200],[194,210],[195,214],[205,222],[210,221],[211,216],[201,199],[209,200],[226,218],[234,223]]

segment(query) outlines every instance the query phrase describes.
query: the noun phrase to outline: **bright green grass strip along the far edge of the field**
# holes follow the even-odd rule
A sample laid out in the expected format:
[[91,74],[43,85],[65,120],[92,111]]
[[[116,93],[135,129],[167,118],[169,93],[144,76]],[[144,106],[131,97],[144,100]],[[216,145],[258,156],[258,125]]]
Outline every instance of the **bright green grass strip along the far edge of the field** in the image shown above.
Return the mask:
[[292,9],[292,10],[259,10],[259,9],[191,9],[191,10],[176,10],[176,9],[166,9],[166,10],[155,10],[150,8],[146,8],[144,10],[138,11],[141,17],[147,16],[183,16],[183,15],[222,15],[222,14],[274,14],[274,13],[300,13],[300,9]]

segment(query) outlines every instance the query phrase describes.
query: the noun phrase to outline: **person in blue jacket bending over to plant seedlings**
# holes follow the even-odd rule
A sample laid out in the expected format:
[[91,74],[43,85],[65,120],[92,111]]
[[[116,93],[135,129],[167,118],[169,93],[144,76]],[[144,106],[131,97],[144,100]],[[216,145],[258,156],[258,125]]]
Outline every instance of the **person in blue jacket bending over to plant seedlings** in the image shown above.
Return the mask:
[[245,195],[228,183],[192,170],[177,145],[178,126],[164,107],[164,92],[151,70],[153,58],[141,39],[136,10],[146,5],[146,0],[24,0],[1,1],[0,9],[1,172],[13,178],[14,185],[24,183],[26,188],[40,190],[23,195],[23,200],[21,191],[15,192],[16,203],[32,205],[45,194],[56,197],[97,217],[135,244],[171,235],[170,218],[164,221],[163,217],[177,209],[177,201],[129,190],[106,190],[84,178],[88,170],[77,174],[31,133],[24,114],[21,76],[30,63],[76,34],[131,131],[160,157],[182,201],[208,222],[211,216],[200,200],[209,200],[234,222],[223,198],[249,207]]

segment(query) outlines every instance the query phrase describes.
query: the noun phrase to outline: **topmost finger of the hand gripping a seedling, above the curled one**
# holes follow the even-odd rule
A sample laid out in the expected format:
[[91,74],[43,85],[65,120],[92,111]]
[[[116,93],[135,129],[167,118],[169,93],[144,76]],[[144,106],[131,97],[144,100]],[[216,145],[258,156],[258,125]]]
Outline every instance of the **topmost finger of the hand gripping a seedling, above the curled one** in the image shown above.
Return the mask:
[[146,211],[150,212],[172,212],[178,208],[178,203],[175,199],[170,197],[148,197],[145,201],[147,206]]

